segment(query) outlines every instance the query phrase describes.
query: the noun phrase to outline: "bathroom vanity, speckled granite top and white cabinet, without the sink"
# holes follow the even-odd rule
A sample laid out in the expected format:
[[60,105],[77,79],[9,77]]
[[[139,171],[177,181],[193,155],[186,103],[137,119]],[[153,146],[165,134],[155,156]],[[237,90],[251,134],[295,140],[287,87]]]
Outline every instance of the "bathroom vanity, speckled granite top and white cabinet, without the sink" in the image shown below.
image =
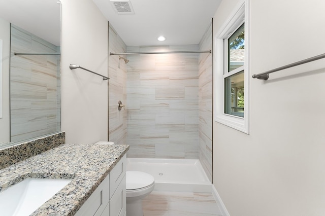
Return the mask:
[[128,149],[127,145],[63,144],[0,169],[0,192],[25,178],[71,179],[31,215],[124,216]]

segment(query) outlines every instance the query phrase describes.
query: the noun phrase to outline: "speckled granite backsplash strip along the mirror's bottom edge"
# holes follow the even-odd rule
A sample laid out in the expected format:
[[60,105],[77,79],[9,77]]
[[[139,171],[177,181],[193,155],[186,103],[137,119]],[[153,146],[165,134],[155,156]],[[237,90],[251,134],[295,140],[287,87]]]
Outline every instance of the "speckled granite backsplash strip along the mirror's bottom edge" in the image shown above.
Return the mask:
[[66,133],[58,132],[0,149],[0,169],[66,143]]

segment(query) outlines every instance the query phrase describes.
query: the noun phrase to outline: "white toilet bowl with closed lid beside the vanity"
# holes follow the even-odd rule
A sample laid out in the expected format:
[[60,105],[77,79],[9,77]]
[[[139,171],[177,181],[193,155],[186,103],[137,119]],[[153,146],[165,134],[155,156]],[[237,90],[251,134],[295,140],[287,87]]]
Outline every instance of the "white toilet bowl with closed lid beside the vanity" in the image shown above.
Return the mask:
[[153,189],[152,175],[140,171],[126,171],[126,216],[143,216],[141,200]]

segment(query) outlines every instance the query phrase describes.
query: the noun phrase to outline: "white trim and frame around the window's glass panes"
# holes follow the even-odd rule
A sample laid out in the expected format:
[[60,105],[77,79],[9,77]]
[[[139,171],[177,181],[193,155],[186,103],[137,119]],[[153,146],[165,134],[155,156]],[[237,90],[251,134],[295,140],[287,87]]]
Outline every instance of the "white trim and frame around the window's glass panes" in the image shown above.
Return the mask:
[[[249,134],[249,0],[240,0],[230,17],[214,36],[214,120]],[[244,118],[224,113],[224,42],[245,22]]]

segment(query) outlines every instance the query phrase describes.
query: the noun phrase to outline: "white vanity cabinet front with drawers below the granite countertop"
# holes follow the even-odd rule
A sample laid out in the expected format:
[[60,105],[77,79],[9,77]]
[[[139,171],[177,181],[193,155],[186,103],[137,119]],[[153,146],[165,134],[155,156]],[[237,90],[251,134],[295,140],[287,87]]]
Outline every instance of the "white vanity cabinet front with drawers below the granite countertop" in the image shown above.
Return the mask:
[[75,214],[76,216],[126,215],[126,155],[114,166],[104,181],[96,188]]

